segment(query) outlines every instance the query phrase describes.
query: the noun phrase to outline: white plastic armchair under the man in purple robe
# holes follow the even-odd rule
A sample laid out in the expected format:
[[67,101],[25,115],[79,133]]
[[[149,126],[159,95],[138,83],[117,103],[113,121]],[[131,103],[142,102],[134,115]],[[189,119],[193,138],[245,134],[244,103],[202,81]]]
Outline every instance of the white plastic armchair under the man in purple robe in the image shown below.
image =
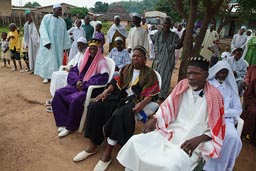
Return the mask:
[[[109,83],[112,80],[114,72],[115,72],[115,62],[111,58],[106,58],[106,60],[107,60],[108,67],[110,69],[109,78],[108,78],[108,83]],[[88,107],[89,103],[93,100],[93,98],[91,97],[92,96],[92,91],[94,89],[97,89],[97,88],[103,88],[106,85],[107,84],[105,84],[105,85],[91,85],[91,86],[88,87],[87,94],[86,94],[86,99],[85,99],[85,102],[84,102],[84,112],[82,114],[82,118],[81,118],[81,121],[80,121],[80,126],[79,126],[79,129],[78,129],[78,132],[83,132],[85,119],[86,119],[86,115],[87,115],[87,107]]]

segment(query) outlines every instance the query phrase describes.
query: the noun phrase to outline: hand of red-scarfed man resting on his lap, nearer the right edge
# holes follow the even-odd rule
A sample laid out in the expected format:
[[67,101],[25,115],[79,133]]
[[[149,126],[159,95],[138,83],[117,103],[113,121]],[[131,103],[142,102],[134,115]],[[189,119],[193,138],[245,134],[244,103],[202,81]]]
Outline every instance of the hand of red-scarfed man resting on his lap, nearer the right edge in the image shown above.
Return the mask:
[[185,141],[183,144],[181,144],[180,148],[182,148],[188,155],[189,157],[192,156],[193,151],[196,149],[196,147],[205,141],[209,141],[211,138],[208,137],[205,134],[202,134],[200,136],[191,138],[190,140]]

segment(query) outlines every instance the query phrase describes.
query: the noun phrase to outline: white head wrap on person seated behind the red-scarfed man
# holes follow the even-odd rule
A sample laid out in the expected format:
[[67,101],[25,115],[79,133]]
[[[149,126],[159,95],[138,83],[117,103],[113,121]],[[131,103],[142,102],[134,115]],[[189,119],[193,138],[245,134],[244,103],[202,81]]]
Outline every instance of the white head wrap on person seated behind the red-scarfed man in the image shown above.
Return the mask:
[[227,84],[238,95],[238,88],[237,88],[237,84],[236,84],[236,79],[235,79],[233,71],[232,71],[232,69],[231,69],[231,67],[230,67],[230,65],[227,61],[219,61],[219,62],[217,62],[217,64],[213,65],[209,69],[208,80],[211,80],[211,79],[215,78],[216,74],[222,69],[227,69],[228,70],[228,76],[227,76],[225,82],[227,82]]

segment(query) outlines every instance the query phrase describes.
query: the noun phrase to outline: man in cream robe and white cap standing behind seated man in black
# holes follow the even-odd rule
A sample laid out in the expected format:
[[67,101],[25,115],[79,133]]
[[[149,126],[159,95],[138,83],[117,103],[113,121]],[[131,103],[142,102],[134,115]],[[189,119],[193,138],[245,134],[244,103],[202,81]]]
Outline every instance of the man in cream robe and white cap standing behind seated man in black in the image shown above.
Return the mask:
[[141,27],[141,15],[134,13],[132,16],[132,22],[135,27],[131,28],[127,37],[128,51],[131,52],[135,46],[143,46],[148,52],[148,32]]

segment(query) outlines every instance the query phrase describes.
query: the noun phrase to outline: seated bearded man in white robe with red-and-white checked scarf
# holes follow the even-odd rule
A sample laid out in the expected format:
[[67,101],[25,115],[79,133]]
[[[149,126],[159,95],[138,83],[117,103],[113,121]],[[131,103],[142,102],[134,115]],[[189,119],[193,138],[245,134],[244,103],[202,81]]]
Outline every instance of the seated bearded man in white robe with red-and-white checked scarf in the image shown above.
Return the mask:
[[[225,136],[223,98],[207,82],[209,63],[189,59],[187,79],[180,81],[145,125],[118,153],[133,171],[189,171],[199,158],[218,158]],[[156,128],[156,130],[147,133]]]

